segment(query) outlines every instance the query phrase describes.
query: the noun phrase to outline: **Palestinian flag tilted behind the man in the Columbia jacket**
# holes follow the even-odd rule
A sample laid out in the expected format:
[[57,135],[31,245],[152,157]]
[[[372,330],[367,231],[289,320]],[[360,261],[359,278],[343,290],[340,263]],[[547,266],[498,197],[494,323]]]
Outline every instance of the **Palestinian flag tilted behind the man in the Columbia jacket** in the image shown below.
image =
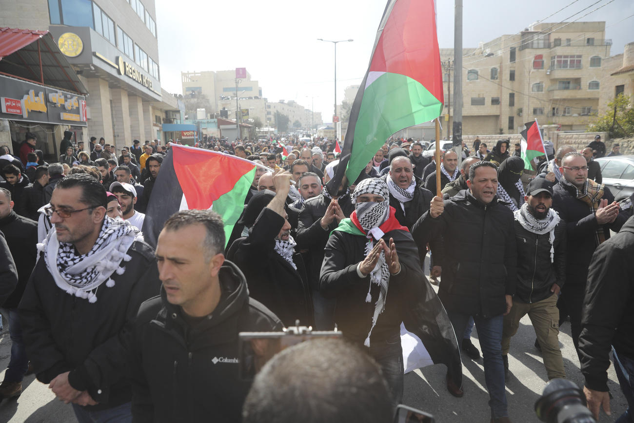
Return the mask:
[[233,155],[171,144],[148,204],[143,235],[156,247],[165,221],[179,210],[212,209],[228,241],[244,208],[256,164]]

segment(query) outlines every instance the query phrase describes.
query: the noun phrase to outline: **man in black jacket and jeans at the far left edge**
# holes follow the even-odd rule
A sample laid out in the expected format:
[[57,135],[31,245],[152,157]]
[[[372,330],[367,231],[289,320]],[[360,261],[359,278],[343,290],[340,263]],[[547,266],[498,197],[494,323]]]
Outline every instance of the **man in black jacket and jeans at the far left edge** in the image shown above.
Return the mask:
[[13,257],[18,272],[18,284],[6,301],[0,303],[8,311],[11,335],[11,360],[4,373],[4,381],[0,385],[1,400],[22,393],[22,378],[29,367],[18,318],[18,304],[36,265],[37,257],[37,223],[13,211],[11,194],[4,188],[0,188],[0,231],[3,231],[6,237],[9,257]]

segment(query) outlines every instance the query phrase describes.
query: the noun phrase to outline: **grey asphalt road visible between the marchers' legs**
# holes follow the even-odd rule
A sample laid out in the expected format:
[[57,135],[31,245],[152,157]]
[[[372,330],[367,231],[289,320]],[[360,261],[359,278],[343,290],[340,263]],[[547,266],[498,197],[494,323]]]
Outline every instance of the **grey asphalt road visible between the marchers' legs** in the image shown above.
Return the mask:
[[[11,340],[8,326],[5,322],[4,330],[0,334],[0,368],[4,369],[9,363]],[[472,341],[479,348],[477,330],[474,330]],[[517,422],[539,422],[534,413],[534,403],[540,398],[541,391],[548,382],[546,370],[538,351],[533,343],[535,335],[531,322],[527,316],[511,342],[509,365],[512,372],[507,384],[507,401],[510,418]],[[579,360],[574,351],[570,336],[570,323],[566,322],[561,328],[559,342],[564,356],[567,378],[583,384],[579,372]],[[463,398],[454,398],[446,390],[444,365],[434,365],[415,370],[405,375],[403,403],[431,413],[436,422],[488,422],[490,412],[489,396],[484,382],[484,368],[482,358],[472,361],[463,358]],[[0,377],[4,377],[4,370]],[[614,398],[611,401],[612,417],[602,413],[600,422],[613,422],[627,408],[627,402],[621,393],[614,368],[609,368],[609,387]],[[39,423],[63,422],[74,423],[74,413],[70,405],[65,405],[55,399],[48,387],[38,382],[34,375],[25,377],[23,393],[18,399],[5,400],[0,403],[0,422]]]

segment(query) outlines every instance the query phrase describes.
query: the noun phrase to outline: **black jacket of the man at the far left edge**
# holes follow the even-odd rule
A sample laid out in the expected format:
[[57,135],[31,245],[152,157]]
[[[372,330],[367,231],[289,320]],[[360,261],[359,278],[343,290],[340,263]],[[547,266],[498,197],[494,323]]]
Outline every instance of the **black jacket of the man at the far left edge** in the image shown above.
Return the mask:
[[9,246],[15,268],[18,271],[18,284],[4,303],[5,308],[17,308],[27,282],[37,260],[37,222],[11,212],[0,219],[0,231],[3,231]]

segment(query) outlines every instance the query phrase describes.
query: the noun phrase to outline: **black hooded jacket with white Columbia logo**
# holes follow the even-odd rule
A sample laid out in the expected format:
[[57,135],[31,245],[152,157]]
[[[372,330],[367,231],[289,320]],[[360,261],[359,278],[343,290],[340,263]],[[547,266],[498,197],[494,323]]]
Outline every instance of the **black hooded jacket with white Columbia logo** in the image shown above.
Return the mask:
[[134,422],[240,422],[251,382],[238,371],[238,333],[282,325],[249,298],[235,264],[224,261],[219,278],[220,303],[193,325],[163,291],[141,304],[131,343]]

